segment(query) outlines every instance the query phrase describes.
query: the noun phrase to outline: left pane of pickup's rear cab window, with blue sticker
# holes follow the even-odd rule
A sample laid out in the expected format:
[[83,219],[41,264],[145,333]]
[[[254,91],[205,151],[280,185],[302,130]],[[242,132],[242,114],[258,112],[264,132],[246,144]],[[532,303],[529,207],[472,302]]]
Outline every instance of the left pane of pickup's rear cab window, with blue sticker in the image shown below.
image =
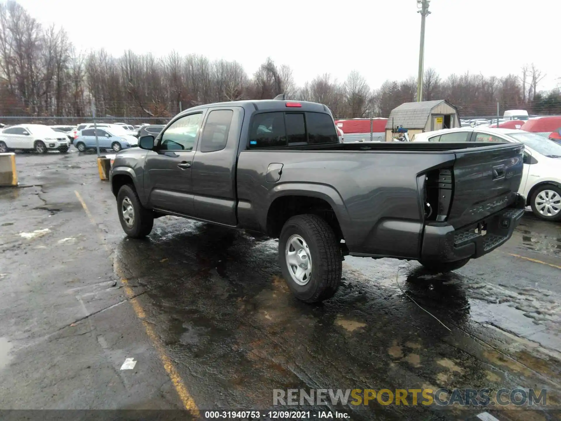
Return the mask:
[[286,145],[284,113],[275,112],[255,115],[251,122],[249,134],[249,147],[251,149]]

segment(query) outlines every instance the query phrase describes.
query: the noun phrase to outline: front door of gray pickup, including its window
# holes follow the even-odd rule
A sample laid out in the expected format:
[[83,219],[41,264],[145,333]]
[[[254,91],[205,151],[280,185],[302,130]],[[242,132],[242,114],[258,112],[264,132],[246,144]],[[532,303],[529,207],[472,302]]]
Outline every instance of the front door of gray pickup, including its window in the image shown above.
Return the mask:
[[193,216],[191,172],[203,111],[182,116],[159,136],[145,160],[145,194],[154,208]]

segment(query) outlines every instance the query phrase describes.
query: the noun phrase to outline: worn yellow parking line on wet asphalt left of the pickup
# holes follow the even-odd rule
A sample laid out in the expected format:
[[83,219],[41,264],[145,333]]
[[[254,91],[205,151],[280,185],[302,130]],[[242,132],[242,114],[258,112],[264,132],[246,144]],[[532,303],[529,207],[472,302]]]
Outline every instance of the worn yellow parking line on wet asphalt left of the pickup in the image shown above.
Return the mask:
[[[84,202],[84,199],[82,199],[82,196],[80,196],[80,193],[78,193],[76,190],[74,191],[74,193],[76,193],[76,197],[80,201],[82,208],[84,208],[84,211],[86,212],[86,215],[88,215],[88,218],[90,219],[91,223],[93,223],[94,226],[97,226],[97,223],[95,222],[93,215],[88,209],[88,206],[86,206],[86,203]],[[99,231],[98,234],[100,235]],[[102,239],[105,248],[108,249],[109,246],[107,245],[107,242],[105,241],[103,236],[100,235],[100,239]],[[116,271],[120,272],[118,268],[116,268]],[[165,371],[168,373],[169,379],[171,379],[173,383],[173,387],[177,392],[177,395],[179,395],[181,402],[183,402],[183,406],[185,406],[185,409],[191,413],[192,417],[200,418],[199,408],[197,408],[195,401],[193,400],[191,394],[185,387],[185,383],[183,382],[183,379],[181,378],[180,374],[177,372],[177,369],[175,368],[172,359],[169,358],[169,356],[165,353],[165,348],[164,345],[162,344],[162,341],[160,340],[158,335],[156,335],[156,332],[154,332],[154,328],[150,326],[150,324],[146,321],[146,313],[144,312],[144,309],[142,308],[142,305],[140,304],[139,300],[135,297],[134,291],[131,289],[130,286],[128,286],[128,281],[126,280],[126,278],[124,278],[121,273],[118,273],[118,275],[119,277],[121,277],[123,290],[125,290],[125,294],[127,295],[128,300],[132,304],[132,308],[135,311],[136,317],[138,317],[142,322],[142,325],[144,326],[144,330],[146,331],[146,335],[148,335],[150,341],[152,342],[152,346],[154,346],[155,350],[157,351],[160,361],[162,361]]]

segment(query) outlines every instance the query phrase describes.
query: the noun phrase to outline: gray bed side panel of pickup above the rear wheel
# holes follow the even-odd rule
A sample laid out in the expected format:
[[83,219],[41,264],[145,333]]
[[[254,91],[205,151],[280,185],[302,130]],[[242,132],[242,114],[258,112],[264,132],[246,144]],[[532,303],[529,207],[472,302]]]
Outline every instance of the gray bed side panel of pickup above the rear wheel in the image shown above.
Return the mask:
[[[454,161],[453,153],[246,150],[237,167],[238,221],[265,231],[269,205],[282,195],[323,198],[352,254],[415,258],[423,226],[417,176]],[[282,176],[267,182],[270,163]]]

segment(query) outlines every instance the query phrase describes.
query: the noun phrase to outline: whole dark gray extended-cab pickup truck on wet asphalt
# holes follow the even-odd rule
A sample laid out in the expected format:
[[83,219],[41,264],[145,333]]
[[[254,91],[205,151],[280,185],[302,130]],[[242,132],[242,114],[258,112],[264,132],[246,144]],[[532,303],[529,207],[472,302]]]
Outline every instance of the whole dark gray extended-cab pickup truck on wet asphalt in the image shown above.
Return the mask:
[[353,255],[450,271],[507,241],[525,199],[522,144],[339,143],[322,104],[255,100],[187,109],[110,180],[126,234],[174,215],[279,239],[288,286],[330,298]]

